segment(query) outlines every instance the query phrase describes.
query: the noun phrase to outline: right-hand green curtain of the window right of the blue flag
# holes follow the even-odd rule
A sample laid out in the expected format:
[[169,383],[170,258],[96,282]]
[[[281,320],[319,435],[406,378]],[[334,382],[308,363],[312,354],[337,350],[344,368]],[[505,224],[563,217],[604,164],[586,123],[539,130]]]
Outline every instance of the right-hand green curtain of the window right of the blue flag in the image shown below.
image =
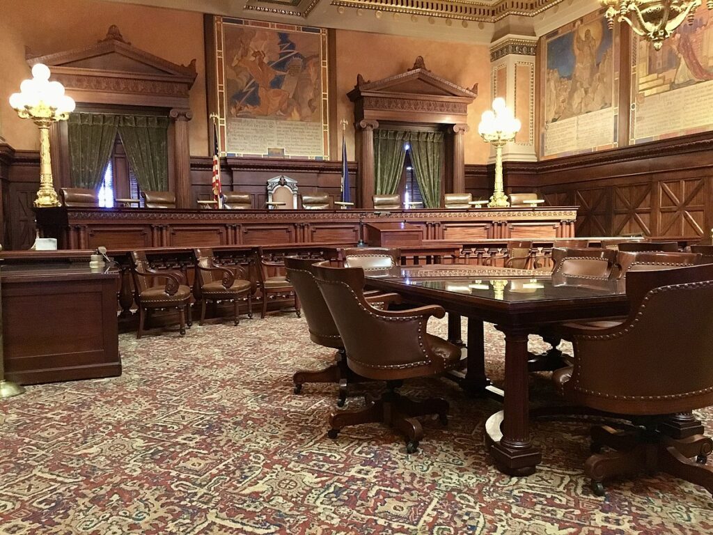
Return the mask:
[[[421,195],[426,208],[441,205],[441,159],[443,158],[443,132],[409,132],[411,162],[416,171]],[[403,159],[403,158],[402,158]]]

